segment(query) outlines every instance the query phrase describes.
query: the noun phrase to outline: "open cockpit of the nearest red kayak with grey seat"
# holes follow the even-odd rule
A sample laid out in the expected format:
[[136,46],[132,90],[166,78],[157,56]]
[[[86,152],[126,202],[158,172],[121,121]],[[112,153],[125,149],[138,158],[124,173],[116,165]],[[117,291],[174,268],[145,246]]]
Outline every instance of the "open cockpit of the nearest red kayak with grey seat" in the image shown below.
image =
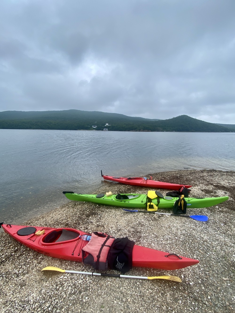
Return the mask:
[[42,238],[42,242],[45,244],[52,244],[62,241],[68,241],[72,239],[78,238],[80,233],[74,232],[67,229],[58,229],[53,230],[50,233],[48,233],[46,236]]

